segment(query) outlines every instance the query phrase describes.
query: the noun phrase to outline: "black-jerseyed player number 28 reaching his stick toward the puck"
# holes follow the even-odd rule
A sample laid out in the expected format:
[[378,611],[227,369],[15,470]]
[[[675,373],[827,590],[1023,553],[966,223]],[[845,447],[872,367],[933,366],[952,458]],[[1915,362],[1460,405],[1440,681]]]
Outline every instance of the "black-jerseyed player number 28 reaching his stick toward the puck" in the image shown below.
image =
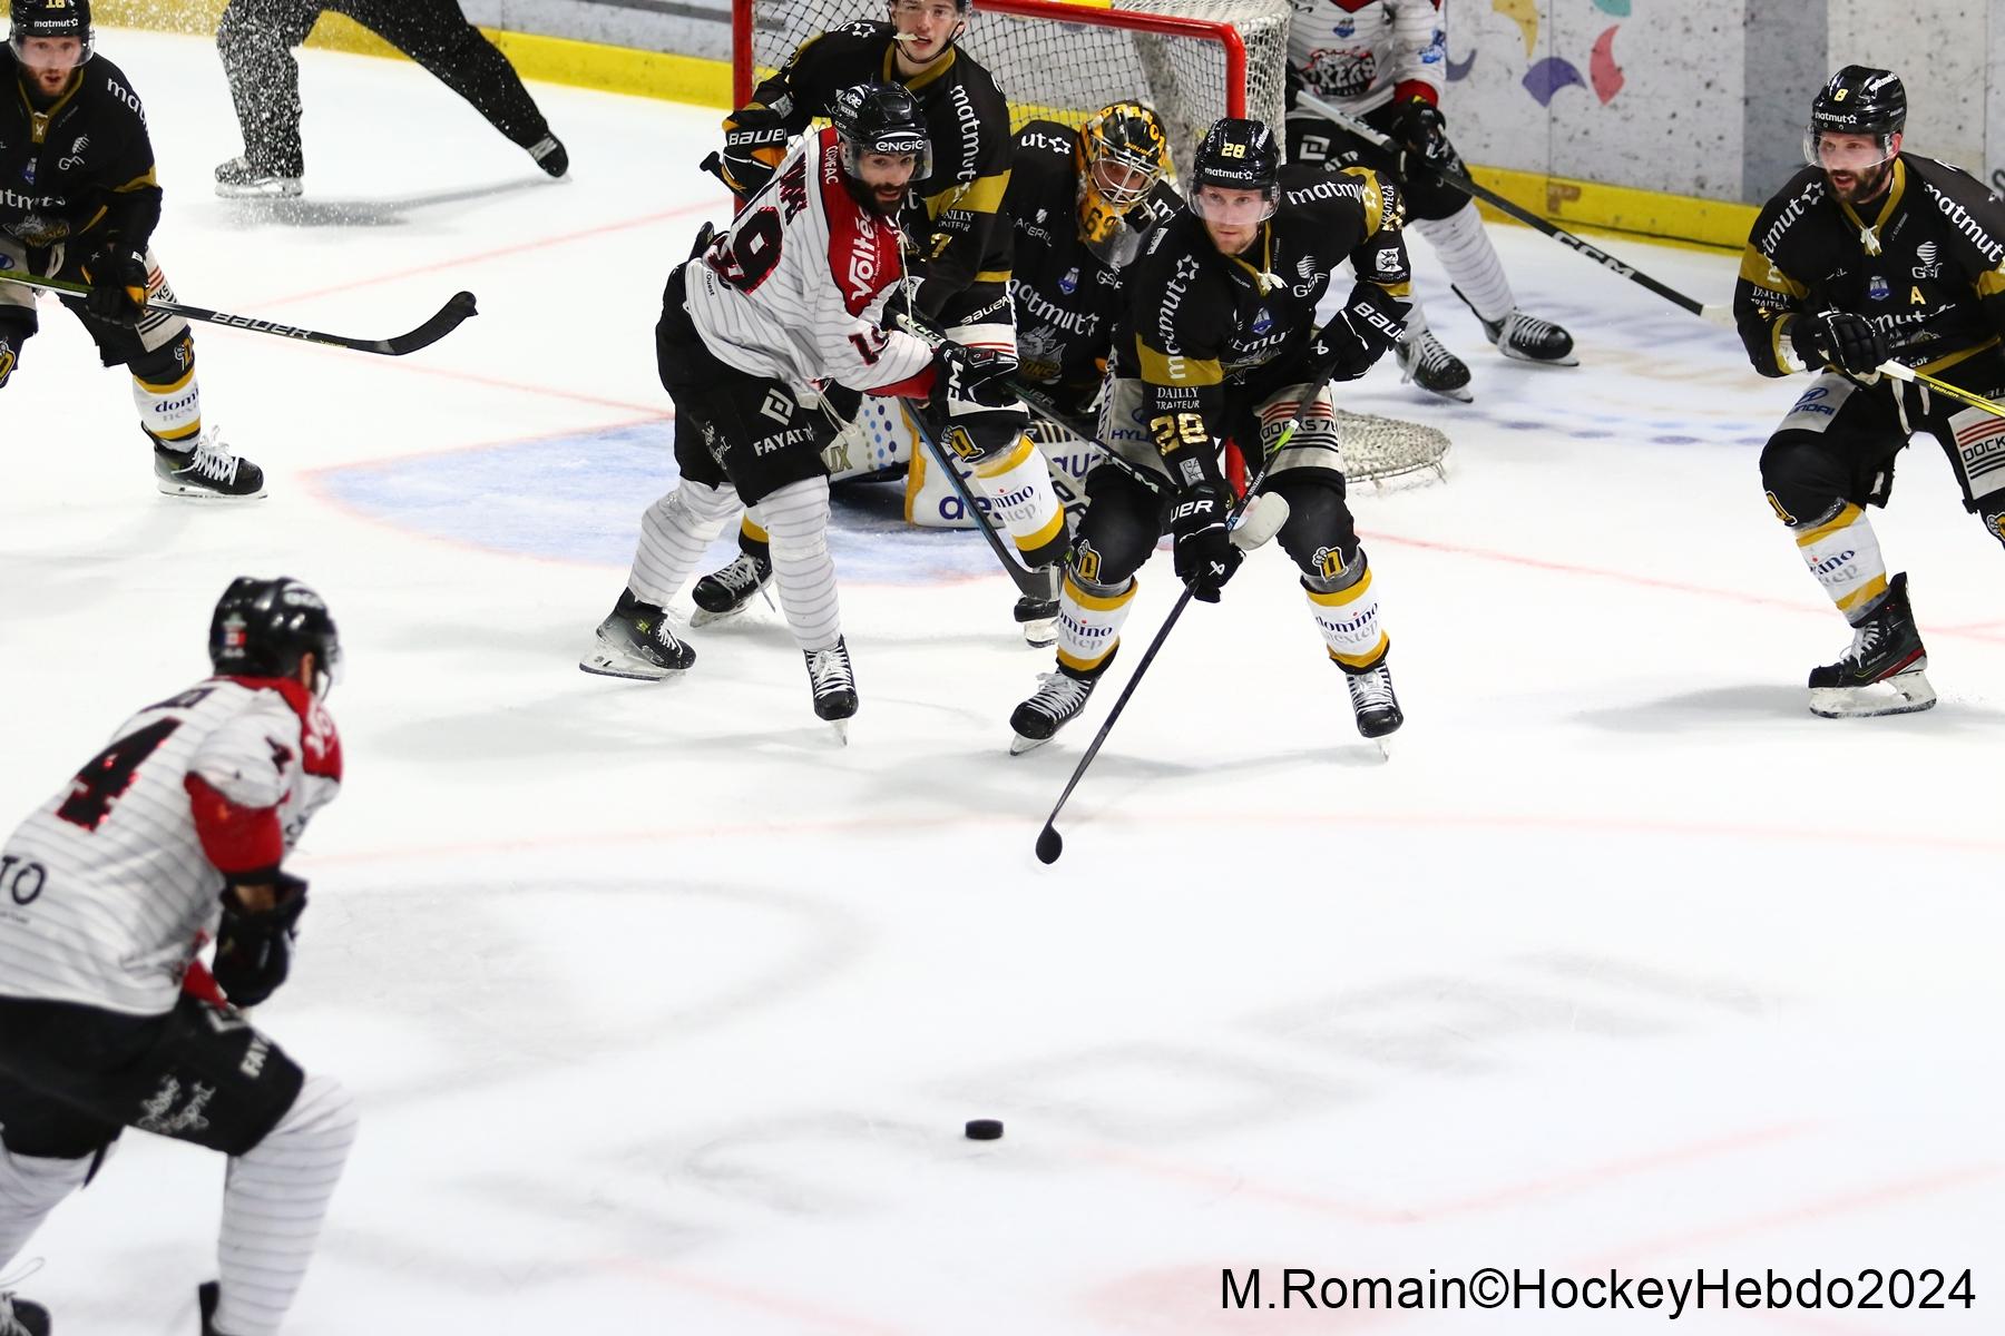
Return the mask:
[[[1011,715],[1013,751],[1049,739],[1085,709],[1119,645],[1135,571],[1167,529],[1177,577],[1215,603],[1241,553],[1225,525],[1231,491],[1221,441],[1271,445],[1297,417],[1263,493],[1287,501],[1281,547],[1301,571],[1309,613],[1343,669],[1357,731],[1401,723],[1371,569],[1343,501],[1343,457],[1327,387],[1361,377],[1399,337],[1410,272],[1399,198],[1369,168],[1309,166],[1279,178],[1273,132],[1219,120],[1189,174],[1191,210],[1149,234],[1127,274],[1101,439],[1131,467],[1087,479],[1059,611],[1057,671]],[[1315,328],[1337,266],[1357,282]],[[1317,369],[1317,371],[1311,371]],[[1251,453],[1251,449],[1249,449]]]

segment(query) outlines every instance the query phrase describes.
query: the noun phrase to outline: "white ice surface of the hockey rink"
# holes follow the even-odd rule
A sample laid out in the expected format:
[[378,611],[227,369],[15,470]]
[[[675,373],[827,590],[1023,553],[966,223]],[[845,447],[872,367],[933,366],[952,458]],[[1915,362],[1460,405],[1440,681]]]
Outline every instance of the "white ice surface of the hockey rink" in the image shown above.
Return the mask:
[[[1353,493],[1389,761],[1265,549],[1179,623],[1043,867],[1167,555],[1125,667],[1025,757],[1049,653],[974,535],[882,493],[838,505],[846,747],[762,605],[682,681],[575,667],[674,477],[652,328],[728,212],[714,112],[537,86],[549,182],[415,66],[305,52],[307,196],[235,204],[213,46],[100,50],[146,98],[182,300],[361,337],[481,306],[407,359],[198,326],[253,507],[154,493],[126,379],[54,304],[0,401],[0,823],[207,673],[231,577],[341,623],[349,779],[259,1024],[365,1122],[289,1330],[2001,1330],[2005,567],[1933,443],[1875,525],[1941,703],[1817,719],[1847,629],[1756,475],[1802,383],[1526,228],[1494,228],[1520,302],[1582,367],[1506,365],[1414,240],[1476,403],[1393,369],[1341,399],[1454,441],[1448,483]],[[1604,244],[1730,294],[1728,254]],[[62,1336],[192,1332],[221,1184],[126,1136],[16,1288]],[[1975,1268],[1975,1304],[1223,1306],[1225,1268],[1265,1304],[1283,1268],[1488,1266]]]

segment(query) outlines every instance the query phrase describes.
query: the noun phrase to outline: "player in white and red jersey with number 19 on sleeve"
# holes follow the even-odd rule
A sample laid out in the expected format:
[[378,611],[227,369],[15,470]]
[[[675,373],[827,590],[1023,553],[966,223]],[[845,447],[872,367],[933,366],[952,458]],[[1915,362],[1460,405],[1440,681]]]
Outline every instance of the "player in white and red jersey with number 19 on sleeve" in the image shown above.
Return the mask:
[[680,485],[642,515],[628,587],[581,667],[660,679],[696,661],[664,607],[746,505],[772,539],[780,607],[808,665],[814,713],[856,713],[828,557],[824,447],[838,423],[810,383],[930,399],[942,435],[1023,429],[1005,389],[1017,361],[884,328],[900,286],[898,210],[928,174],[926,122],[898,84],[836,94],[834,126],[808,134],[730,228],[668,280],[656,353],[676,401]]

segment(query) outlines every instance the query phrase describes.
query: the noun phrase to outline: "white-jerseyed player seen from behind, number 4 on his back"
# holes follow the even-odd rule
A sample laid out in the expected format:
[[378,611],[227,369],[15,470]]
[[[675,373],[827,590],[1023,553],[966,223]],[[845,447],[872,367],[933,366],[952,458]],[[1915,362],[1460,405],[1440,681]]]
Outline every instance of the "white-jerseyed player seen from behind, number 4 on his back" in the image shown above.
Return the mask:
[[[321,703],[341,649],[311,589],[243,577],[209,657],[215,677],[138,711],[0,847],[0,1274],[138,1128],[229,1156],[203,1332],[269,1336],[355,1110],[235,1008],[287,977],[307,883],[283,861],[341,785]],[[215,987],[198,987],[209,937]],[[10,1308],[48,1332],[40,1304],[0,1298],[0,1320]]]

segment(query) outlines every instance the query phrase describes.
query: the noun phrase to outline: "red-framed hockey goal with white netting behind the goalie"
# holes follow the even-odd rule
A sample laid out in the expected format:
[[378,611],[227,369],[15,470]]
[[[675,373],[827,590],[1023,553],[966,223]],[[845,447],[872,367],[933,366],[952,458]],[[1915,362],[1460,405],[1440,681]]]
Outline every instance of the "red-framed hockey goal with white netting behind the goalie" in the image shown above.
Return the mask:
[[[1011,128],[1079,124],[1125,98],[1165,120],[1171,160],[1189,160],[1219,116],[1281,126],[1289,0],[974,0],[960,38],[1011,102]],[[882,20],[868,0],[732,0],[734,98],[816,32]]]

